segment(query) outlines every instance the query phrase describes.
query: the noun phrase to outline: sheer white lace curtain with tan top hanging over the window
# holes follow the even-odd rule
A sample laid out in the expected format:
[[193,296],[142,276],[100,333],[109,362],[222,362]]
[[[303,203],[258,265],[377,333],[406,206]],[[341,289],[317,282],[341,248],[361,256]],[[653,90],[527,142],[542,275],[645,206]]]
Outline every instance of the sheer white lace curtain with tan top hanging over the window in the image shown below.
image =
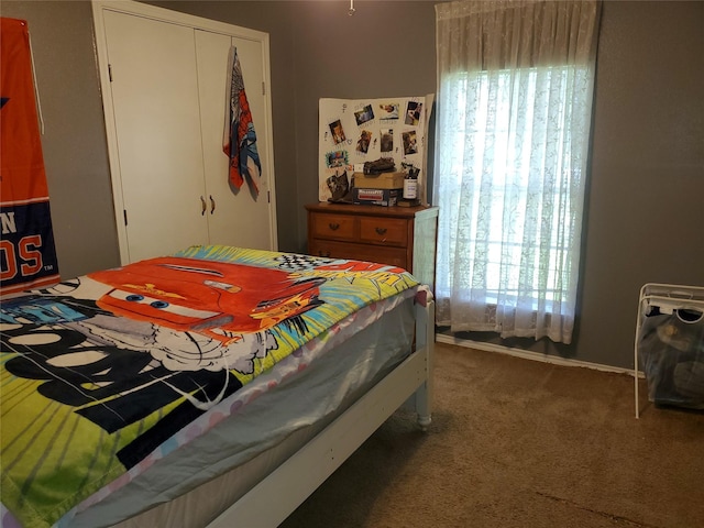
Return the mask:
[[601,4],[436,6],[437,322],[569,343]]

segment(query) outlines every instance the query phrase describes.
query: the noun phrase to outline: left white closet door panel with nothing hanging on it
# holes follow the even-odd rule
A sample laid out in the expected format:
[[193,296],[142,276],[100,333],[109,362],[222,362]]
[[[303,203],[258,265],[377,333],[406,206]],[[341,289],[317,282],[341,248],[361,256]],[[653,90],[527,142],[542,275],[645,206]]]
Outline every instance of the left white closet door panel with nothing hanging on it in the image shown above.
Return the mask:
[[194,30],[110,11],[105,29],[129,261],[207,243]]

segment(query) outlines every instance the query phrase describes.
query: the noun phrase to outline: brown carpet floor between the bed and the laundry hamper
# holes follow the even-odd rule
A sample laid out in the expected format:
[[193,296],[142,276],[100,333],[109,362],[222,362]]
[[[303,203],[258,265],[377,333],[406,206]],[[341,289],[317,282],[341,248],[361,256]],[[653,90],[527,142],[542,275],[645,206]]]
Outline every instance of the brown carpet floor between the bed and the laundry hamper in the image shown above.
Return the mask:
[[436,350],[430,429],[396,413],[284,528],[704,527],[704,414],[636,419],[628,375]]

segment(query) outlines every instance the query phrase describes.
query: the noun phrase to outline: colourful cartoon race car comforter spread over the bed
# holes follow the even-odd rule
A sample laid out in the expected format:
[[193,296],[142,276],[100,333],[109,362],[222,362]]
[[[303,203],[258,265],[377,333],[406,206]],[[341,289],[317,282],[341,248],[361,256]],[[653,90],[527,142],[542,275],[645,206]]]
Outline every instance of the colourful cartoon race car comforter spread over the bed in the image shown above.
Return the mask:
[[331,326],[417,285],[381,264],[213,245],[3,300],[2,506],[53,525],[188,441],[194,420],[204,433],[237,411],[204,418]]

